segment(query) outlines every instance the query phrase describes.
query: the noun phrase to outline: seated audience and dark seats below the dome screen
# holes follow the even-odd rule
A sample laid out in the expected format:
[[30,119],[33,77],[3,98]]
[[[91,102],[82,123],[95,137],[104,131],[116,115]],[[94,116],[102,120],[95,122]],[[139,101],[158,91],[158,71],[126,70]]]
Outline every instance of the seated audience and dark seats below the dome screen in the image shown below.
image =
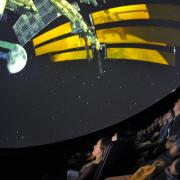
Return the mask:
[[100,138],[67,180],[180,180],[180,99],[135,135]]

